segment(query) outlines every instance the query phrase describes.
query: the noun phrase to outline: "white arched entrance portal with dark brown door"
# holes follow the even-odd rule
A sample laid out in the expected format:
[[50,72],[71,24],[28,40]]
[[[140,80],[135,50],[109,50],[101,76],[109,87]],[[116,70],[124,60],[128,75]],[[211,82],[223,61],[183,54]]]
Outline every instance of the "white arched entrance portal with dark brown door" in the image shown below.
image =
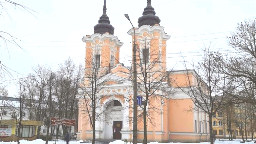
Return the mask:
[[107,105],[104,121],[104,138],[121,139],[120,133],[123,128],[122,104],[118,100],[110,101]]

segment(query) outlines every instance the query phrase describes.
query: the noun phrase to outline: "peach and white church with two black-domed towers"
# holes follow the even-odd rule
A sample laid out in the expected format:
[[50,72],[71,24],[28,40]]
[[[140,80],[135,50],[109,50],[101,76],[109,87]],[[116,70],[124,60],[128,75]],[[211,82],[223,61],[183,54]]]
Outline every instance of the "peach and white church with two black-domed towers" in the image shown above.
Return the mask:
[[[136,46],[138,142],[143,141],[143,110],[146,110],[147,142],[207,141],[209,117],[181,90],[186,89],[188,79],[196,84],[193,77],[196,73],[167,69],[166,42],[170,36],[160,26],[151,0],[147,4],[145,1],[145,5],[138,27],[128,31]],[[82,41],[86,43],[86,60],[77,139],[92,139],[92,120],[95,120],[96,139],[132,142],[134,68],[133,64],[126,67],[119,61],[123,43],[114,35],[106,0],[94,34],[86,35]],[[131,54],[133,58],[133,51]],[[95,117],[91,115],[93,111]]]

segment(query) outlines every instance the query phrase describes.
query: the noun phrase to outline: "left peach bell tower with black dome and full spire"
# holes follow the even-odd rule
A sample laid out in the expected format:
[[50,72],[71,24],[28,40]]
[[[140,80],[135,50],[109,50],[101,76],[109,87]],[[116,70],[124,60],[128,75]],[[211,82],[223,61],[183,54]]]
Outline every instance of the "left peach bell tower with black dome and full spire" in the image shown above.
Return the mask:
[[94,26],[94,34],[86,35],[82,39],[86,43],[85,68],[111,69],[119,63],[119,50],[123,45],[114,36],[114,27],[107,16],[106,0],[104,0],[103,14],[99,17],[98,24]]

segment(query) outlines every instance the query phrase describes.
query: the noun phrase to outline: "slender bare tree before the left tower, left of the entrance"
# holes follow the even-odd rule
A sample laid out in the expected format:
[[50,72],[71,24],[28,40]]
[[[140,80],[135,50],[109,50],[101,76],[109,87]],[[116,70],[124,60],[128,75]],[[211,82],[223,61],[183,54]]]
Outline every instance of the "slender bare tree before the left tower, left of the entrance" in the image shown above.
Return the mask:
[[[84,81],[83,84],[80,84],[83,96],[80,101],[80,110],[83,111],[85,119],[87,119],[92,126],[92,144],[94,144],[96,121],[102,121],[100,116],[108,109],[107,106],[103,104],[103,100],[108,95],[107,91],[104,94],[102,93],[102,90],[106,87],[108,68],[100,67],[100,56],[97,52],[93,53],[92,50],[88,50],[87,52]],[[104,108],[102,109],[102,107]]]

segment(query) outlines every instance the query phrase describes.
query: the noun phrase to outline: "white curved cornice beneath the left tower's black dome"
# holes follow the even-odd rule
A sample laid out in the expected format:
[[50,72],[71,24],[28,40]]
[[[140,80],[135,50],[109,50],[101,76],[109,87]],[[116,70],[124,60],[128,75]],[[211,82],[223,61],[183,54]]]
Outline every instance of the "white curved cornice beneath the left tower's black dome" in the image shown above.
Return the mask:
[[92,42],[92,41],[95,41],[96,39],[99,39],[100,41],[104,41],[106,38],[114,41],[115,46],[121,47],[124,44],[123,42],[120,42],[116,36],[113,36],[113,35],[110,35],[110,34],[100,35],[100,34],[97,34],[97,33],[93,34],[92,36],[83,37],[82,41],[83,42]]

